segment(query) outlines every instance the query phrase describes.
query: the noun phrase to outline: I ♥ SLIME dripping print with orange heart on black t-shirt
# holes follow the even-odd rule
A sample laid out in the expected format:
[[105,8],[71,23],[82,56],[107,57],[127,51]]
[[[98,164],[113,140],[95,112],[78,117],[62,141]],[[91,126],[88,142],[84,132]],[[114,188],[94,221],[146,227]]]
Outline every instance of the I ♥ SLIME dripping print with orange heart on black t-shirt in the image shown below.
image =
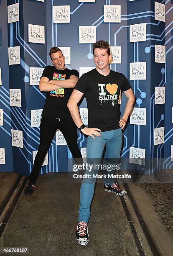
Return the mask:
[[[112,100],[112,106],[116,105],[118,103],[118,95],[117,90],[118,86],[117,84],[98,84],[99,86],[99,100],[106,101],[109,103],[110,100]],[[109,93],[107,94],[105,90]]]

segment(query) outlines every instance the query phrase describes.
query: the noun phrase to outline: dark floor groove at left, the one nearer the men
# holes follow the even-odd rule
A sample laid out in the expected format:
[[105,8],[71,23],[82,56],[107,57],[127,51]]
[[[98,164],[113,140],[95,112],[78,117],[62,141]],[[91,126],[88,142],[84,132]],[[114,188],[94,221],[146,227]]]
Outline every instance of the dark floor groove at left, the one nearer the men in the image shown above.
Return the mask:
[[12,204],[10,205],[10,208],[8,209],[8,212],[6,213],[5,217],[3,218],[2,224],[6,225],[8,223],[8,220],[10,219],[10,216],[11,216],[11,214],[12,214],[14,208],[15,208],[15,205],[17,204],[17,202],[19,200],[19,197],[20,197],[20,195],[21,195],[21,193],[22,193],[22,191],[23,191],[23,189],[25,187],[25,184],[26,184],[27,180],[28,180],[28,177],[26,177],[24,179],[20,189],[18,190],[17,195],[15,196]]

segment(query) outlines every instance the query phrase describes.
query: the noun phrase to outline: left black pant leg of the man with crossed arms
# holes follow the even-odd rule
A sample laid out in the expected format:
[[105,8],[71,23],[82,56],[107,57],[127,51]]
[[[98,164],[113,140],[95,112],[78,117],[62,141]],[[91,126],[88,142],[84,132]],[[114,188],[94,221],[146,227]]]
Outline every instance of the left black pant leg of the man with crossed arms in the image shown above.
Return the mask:
[[31,171],[29,180],[35,183],[38,178],[41,166],[45,159],[46,153],[51,146],[51,141],[56,133],[58,121],[54,118],[41,118],[40,124],[40,145],[38,147],[38,152],[33,164],[33,169]]

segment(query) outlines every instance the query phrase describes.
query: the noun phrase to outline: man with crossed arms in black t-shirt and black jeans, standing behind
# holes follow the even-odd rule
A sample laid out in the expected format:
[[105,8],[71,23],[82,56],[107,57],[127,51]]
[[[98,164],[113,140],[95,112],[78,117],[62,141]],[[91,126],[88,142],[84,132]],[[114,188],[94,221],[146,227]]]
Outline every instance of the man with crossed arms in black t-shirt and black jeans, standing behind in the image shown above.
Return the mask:
[[46,101],[40,124],[40,145],[36,155],[25,195],[32,195],[41,166],[57,129],[64,135],[66,143],[74,159],[82,161],[77,144],[77,130],[67,108],[67,102],[79,72],[65,67],[64,56],[58,47],[52,47],[49,56],[53,66],[45,67],[39,82],[41,92],[46,92]]

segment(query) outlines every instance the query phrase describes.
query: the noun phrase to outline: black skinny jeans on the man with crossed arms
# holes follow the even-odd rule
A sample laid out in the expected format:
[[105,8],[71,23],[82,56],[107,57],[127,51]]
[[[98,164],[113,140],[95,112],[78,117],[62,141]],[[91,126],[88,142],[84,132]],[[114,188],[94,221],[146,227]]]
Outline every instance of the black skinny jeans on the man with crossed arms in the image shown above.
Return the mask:
[[29,181],[32,183],[35,183],[38,178],[44,158],[51,146],[51,142],[57,129],[59,129],[64,135],[74,161],[76,159],[76,161],[80,163],[83,162],[81,152],[77,144],[77,128],[73,120],[42,117],[40,124],[40,145],[29,177]]

